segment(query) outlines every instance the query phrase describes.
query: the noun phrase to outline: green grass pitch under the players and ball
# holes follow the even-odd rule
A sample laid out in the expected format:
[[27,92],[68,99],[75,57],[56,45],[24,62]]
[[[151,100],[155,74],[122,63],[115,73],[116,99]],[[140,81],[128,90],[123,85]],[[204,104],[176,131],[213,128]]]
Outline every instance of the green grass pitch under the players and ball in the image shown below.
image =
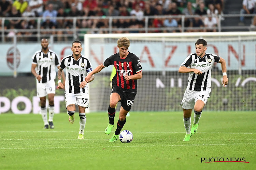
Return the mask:
[[[194,113],[191,116],[193,122]],[[0,169],[254,169],[254,112],[202,112],[198,131],[184,142],[182,112],[131,112],[123,130],[131,143],[109,142],[107,113],[86,114],[84,138],[77,139],[79,116],[54,116],[55,129],[43,129],[41,115],[0,115]],[[201,163],[201,157],[246,162]]]

